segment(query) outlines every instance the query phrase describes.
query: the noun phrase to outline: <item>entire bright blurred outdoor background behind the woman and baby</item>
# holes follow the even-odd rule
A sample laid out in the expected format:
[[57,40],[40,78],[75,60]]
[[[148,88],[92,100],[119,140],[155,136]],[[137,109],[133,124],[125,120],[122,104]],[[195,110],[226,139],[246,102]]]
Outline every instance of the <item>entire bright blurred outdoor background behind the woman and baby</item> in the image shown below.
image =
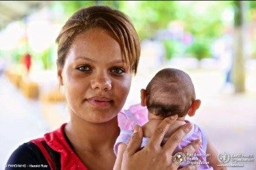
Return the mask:
[[[0,1],[0,169],[20,144],[69,120],[54,41],[71,14],[90,5],[125,12],[140,36],[125,108],[140,102],[161,68],[185,70],[202,100],[188,119],[219,152],[255,158],[255,1]],[[256,169],[255,161],[242,165]]]

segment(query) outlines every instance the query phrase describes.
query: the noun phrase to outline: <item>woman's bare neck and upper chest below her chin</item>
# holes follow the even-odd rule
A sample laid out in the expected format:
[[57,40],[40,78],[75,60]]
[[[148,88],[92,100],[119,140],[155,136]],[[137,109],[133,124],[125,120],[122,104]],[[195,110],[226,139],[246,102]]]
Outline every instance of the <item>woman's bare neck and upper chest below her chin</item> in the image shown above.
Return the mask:
[[117,116],[106,123],[90,123],[80,118],[71,118],[65,126],[65,133],[75,150],[101,154],[113,148],[120,129]]

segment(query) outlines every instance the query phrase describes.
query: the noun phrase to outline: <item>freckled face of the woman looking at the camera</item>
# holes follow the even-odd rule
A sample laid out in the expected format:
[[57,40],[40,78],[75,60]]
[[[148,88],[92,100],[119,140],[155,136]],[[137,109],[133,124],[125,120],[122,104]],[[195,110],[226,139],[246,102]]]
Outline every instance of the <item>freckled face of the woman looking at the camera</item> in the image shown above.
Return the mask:
[[58,68],[71,117],[91,123],[113,119],[125,104],[131,69],[108,31],[92,28],[74,39],[65,65]]

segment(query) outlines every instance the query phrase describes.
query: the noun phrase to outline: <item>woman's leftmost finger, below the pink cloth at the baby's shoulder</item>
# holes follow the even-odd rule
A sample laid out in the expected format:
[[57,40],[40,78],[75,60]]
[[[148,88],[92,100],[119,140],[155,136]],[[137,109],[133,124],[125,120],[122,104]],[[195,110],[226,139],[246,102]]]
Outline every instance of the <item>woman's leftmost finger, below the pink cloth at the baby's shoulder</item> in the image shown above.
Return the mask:
[[142,128],[139,125],[135,125],[133,135],[131,136],[131,140],[127,145],[125,154],[133,155],[140,149],[140,146],[142,144],[142,136]]

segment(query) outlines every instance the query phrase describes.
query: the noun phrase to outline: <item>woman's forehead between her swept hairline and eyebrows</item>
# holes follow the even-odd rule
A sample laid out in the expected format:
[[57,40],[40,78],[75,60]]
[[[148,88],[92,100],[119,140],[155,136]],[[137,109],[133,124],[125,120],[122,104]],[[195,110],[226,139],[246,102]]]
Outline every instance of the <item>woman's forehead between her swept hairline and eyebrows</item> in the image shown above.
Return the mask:
[[102,28],[90,29],[77,35],[67,56],[72,56],[73,60],[105,58],[113,62],[125,62],[119,43]]

